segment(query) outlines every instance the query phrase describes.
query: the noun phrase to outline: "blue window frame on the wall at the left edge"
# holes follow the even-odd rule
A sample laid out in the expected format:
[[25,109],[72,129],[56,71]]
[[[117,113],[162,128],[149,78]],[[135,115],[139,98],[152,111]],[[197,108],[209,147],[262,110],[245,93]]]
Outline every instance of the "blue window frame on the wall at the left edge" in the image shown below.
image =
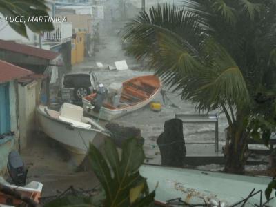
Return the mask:
[[10,131],[9,84],[0,84],[0,134]]

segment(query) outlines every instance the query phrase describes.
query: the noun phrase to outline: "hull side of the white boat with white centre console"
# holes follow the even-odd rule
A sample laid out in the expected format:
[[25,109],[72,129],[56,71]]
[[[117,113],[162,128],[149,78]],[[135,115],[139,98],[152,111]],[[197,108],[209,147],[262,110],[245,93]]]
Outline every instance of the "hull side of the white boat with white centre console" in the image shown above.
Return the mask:
[[92,143],[99,148],[103,143],[103,135],[97,130],[74,127],[65,121],[54,119],[44,112],[43,106],[37,108],[38,121],[41,130],[60,144],[65,146],[73,154],[79,155],[79,159],[83,159]]

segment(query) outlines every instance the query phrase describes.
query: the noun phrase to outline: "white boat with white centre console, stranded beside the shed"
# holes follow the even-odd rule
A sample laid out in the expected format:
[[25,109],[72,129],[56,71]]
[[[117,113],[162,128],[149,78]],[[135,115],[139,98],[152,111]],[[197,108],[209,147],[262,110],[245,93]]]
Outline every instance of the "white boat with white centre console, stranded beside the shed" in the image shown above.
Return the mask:
[[108,130],[96,121],[83,117],[80,106],[63,103],[61,110],[55,111],[39,105],[37,114],[41,130],[73,154],[79,155],[79,161],[85,157],[90,143],[99,148],[104,137],[109,136]]

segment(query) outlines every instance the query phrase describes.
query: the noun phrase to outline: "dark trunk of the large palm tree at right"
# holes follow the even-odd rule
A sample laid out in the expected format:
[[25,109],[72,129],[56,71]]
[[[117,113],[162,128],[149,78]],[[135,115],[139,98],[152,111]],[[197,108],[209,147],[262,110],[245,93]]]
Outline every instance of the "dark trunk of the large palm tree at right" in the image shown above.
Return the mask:
[[244,167],[249,156],[248,132],[244,126],[244,117],[237,112],[237,119],[231,127],[227,128],[230,143],[226,144],[224,155],[226,163],[224,171],[244,174]]

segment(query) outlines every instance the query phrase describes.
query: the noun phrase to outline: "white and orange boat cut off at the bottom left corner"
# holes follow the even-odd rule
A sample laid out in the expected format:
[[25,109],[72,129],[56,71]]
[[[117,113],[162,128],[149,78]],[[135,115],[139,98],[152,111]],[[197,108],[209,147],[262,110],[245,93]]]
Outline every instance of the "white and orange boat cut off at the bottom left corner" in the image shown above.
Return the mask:
[[[7,186],[8,188],[16,189],[18,193],[24,195],[26,197],[30,197],[37,203],[39,203],[39,198],[41,197],[41,192],[43,188],[43,184],[37,181],[31,181],[26,186],[15,186],[9,184],[3,177],[0,176],[0,184],[3,186]],[[10,195],[6,195],[0,192],[0,206],[21,206],[23,205],[23,201],[20,199],[15,199]]]

